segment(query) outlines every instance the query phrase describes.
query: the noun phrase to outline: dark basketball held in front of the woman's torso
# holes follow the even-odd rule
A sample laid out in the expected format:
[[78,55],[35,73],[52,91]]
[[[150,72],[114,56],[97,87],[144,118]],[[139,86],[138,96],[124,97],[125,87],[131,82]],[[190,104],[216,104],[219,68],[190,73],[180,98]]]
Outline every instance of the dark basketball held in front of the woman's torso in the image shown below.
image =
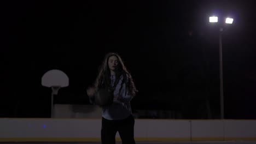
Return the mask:
[[101,88],[95,94],[95,104],[99,106],[108,106],[113,103],[113,93],[108,92],[107,89]]

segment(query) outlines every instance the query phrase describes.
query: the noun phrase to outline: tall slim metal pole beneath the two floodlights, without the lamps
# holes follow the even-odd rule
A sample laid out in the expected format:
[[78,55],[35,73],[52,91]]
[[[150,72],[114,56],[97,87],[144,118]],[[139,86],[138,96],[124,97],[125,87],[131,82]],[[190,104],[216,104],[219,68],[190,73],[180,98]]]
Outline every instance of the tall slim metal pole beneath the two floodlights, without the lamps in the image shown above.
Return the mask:
[[224,96],[223,96],[223,61],[222,61],[222,31],[219,29],[219,86],[220,86],[220,118],[224,119]]

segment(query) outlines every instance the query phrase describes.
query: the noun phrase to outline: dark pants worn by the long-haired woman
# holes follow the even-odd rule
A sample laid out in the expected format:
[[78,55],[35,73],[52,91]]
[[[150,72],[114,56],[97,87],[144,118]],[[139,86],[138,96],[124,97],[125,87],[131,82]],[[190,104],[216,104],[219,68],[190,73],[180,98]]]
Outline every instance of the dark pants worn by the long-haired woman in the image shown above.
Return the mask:
[[117,134],[117,131],[123,144],[135,144],[134,122],[132,115],[121,120],[108,120],[102,117],[102,144],[115,144],[115,134]]

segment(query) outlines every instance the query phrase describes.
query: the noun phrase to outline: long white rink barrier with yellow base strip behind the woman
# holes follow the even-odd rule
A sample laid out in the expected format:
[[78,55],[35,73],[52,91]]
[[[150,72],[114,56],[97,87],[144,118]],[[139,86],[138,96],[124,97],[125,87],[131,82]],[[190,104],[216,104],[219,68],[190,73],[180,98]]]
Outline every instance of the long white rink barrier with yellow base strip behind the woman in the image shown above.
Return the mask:
[[[1,141],[100,141],[101,119],[0,118]],[[135,119],[136,141],[256,141],[256,120]],[[117,140],[120,137],[117,134]]]

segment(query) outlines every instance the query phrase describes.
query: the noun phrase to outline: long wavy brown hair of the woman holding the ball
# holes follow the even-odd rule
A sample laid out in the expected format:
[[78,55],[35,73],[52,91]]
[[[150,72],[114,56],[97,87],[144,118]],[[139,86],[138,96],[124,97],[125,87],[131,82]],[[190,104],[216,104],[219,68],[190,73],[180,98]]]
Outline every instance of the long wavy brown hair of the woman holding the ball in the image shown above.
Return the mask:
[[[115,83],[114,83],[113,87],[111,86],[110,70],[108,67],[108,59],[109,59],[109,57],[112,57],[112,56],[116,56],[119,61],[118,65],[117,65],[117,70],[115,71],[116,79],[115,79]],[[118,53],[113,53],[113,52],[107,53],[107,55],[104,57],[103,62],[99,68],[98,76],[96,78],[94,86],[96,89],[101,88],[102,86],[104,86],[105,88],[115,89],[115,86],[117,86],[117,83],[120,81],[121,76],[123,76],[123,80],[121,82],[119,94],[120,94],[121,89],[123,88],[123,84],[125,83],[129,90],[129,94],[131,94],[132,97],[135,97],[138,90],[135,86],[135,83],[133,82],[131,74],[125,67],[122,58],[120,57],[120,55],[118,55]]]

